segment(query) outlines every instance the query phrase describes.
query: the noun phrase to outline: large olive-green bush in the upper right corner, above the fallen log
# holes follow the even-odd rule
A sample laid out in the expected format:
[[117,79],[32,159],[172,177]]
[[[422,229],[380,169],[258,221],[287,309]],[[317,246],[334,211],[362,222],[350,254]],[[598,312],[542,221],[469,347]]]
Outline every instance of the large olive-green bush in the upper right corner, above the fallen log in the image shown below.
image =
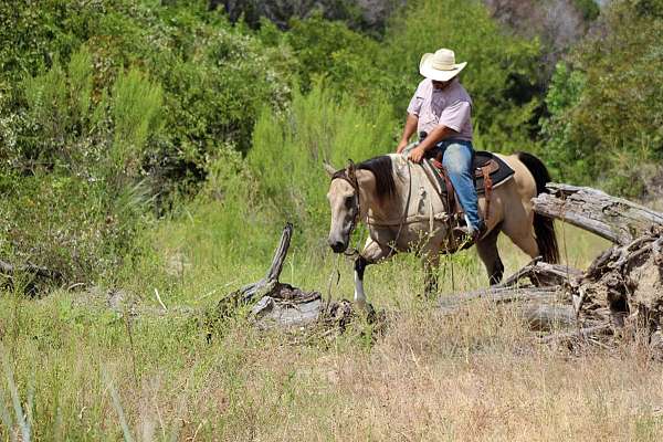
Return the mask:
[[663,156],[663,2],[615,1],[598,25],[552,78],[546,154],[565,179],[633,196]]

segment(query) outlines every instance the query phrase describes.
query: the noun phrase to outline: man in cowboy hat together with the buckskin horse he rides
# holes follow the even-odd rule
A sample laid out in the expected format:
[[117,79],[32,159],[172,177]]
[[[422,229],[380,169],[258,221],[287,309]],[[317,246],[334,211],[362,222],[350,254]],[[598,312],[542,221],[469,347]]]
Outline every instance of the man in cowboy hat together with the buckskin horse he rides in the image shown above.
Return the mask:
[[[429,295],[436,293],[440,255],[472,243],[485,264],[490,284],[502,281],[504,265],[497,250],[502,232],[533,259],[541,256],[549,263],[559,260],[552,220],[533,210],[533,198],[545,192],[550,181],[540,159],[527,152],[509,156],[484,152],[494,165],[501,166],[493,171],[481,166],[485,186],[477,202],[472,170],[472,101],[456,78],[463,67],[465,63],[456,64],[450,50],[424,54],[420,72],[425,80],[408,107],[397,152],[357,165],[350,161],[345,169],[326,167],[332,177],[327,192],[332,215],[327,242],[332,250],[345,252],[357,224],[368,227],[366,243],[355,259],[355,302],[359,306],[367,303],[366,267],[400,252],[421,256]],[[419,143],[408,145],[417,129]],[[446,182],[440,186],[439,179],[432,177],[436,172],[422,161],[429,155],[438,157],[438,152],[442,154],[442,165],[464,209],[464,233],[470,241],[455,240],[455,208],[446,198],[450,192],[453,194],[453,189]],[[499,178],[499,171],[507,173]],[[484,220],[480,218],[480,208],[485,213]]]

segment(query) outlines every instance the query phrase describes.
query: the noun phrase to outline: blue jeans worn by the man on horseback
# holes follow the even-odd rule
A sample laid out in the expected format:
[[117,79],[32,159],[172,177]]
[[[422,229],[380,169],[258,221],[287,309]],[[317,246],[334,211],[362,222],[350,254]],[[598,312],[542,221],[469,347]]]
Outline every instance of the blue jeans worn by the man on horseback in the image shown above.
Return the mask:
[[[448,139],[438,143],[435,149],[443,152],[442,165],[449,173],[449,179],[459,196],[459,202],[465,211],[469,228],[478,229],[478,203],[474,178],[472,177],[472,158],[474,147],[472,141]],[[436,155],[436,151],[433,152]]]

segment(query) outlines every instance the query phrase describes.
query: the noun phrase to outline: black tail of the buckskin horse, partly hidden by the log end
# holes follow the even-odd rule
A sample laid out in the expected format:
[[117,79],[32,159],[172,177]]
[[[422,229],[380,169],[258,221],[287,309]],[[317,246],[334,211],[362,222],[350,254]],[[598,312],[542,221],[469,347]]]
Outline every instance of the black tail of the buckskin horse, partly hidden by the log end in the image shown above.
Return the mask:
[[[547,192],[546,185],[550,182],[550,173],[546,165],[532,154],[518,152],[518,159],[529,169],[536,182],[536,194]],[[559,262],[559,248],[555,235],[555,222],[552,219],[534,213],[534,233],[536,243],[544,261],[550,264]]]

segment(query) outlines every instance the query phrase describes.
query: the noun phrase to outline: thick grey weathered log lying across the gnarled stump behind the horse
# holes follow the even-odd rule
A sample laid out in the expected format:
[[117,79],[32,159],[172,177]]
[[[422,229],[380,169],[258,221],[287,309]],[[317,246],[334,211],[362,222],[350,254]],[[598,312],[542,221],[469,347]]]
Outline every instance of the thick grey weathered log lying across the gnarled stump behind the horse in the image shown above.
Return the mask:
[[663,214],[600,190],[550,182],[534,199],[534,210],[625,245],[663,227]]

